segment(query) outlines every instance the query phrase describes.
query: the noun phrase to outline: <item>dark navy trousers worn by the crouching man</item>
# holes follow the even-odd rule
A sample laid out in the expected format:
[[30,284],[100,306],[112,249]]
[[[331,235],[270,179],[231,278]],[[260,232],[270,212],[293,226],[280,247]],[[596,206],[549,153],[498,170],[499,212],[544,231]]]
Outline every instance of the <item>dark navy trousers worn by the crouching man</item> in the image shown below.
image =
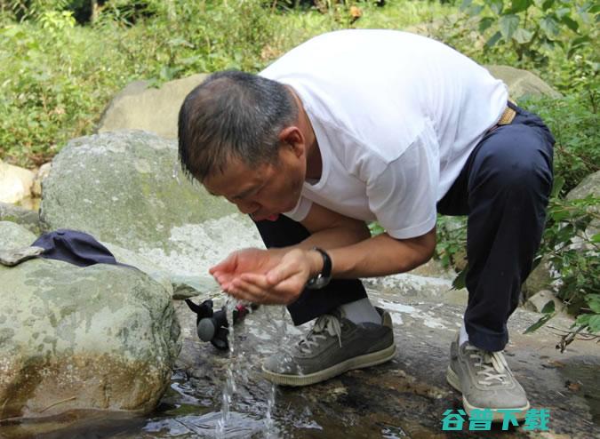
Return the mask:
[[[515,120],[484,136],[437,204],[444,215],[468,215],[465,324],[470,342],[489,351],[508,342],[508,317],[540,245],[553,180],[554,138],[548,127],[509,105],[516,109]],[[309,235],[283,215],[257,227],[267,247],[300,243]],[[333,279],[323,290],[303,291],[288,310],[301,324],[364,297],[359,280]]]

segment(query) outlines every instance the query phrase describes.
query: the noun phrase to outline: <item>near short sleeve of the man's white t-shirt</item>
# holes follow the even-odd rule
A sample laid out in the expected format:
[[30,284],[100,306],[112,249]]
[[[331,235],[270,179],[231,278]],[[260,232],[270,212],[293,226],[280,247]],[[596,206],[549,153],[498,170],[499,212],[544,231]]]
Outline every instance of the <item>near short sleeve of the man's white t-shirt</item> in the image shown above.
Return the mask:
[[436,225],[438,154],[435,138],[424,132],[367,181],[369,207],[388,235],[412,238]]

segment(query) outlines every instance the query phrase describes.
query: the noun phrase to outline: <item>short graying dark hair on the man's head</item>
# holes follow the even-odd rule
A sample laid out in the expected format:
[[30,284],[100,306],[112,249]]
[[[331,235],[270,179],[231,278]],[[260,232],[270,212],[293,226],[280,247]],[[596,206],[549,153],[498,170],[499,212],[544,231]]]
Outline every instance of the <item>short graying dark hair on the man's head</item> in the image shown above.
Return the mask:
[[181,105],[181,169],[203,181],[233,157],[251,167],[276,163],[278,134],[297,116],[284,84],[236,70],[214,73]]

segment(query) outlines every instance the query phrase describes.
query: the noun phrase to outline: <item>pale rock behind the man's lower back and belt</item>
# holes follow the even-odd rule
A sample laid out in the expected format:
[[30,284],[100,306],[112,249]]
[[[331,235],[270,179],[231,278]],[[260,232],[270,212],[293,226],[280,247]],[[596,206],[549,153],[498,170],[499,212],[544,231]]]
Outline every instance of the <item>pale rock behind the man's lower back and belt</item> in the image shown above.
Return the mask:
[[526,95],[546,95],[561,98],[562,95],[546,84],[539,76],[521,68],[509,66],[484,66],[495,78],[501,79],[508,86],[511,99],[518,100]]

